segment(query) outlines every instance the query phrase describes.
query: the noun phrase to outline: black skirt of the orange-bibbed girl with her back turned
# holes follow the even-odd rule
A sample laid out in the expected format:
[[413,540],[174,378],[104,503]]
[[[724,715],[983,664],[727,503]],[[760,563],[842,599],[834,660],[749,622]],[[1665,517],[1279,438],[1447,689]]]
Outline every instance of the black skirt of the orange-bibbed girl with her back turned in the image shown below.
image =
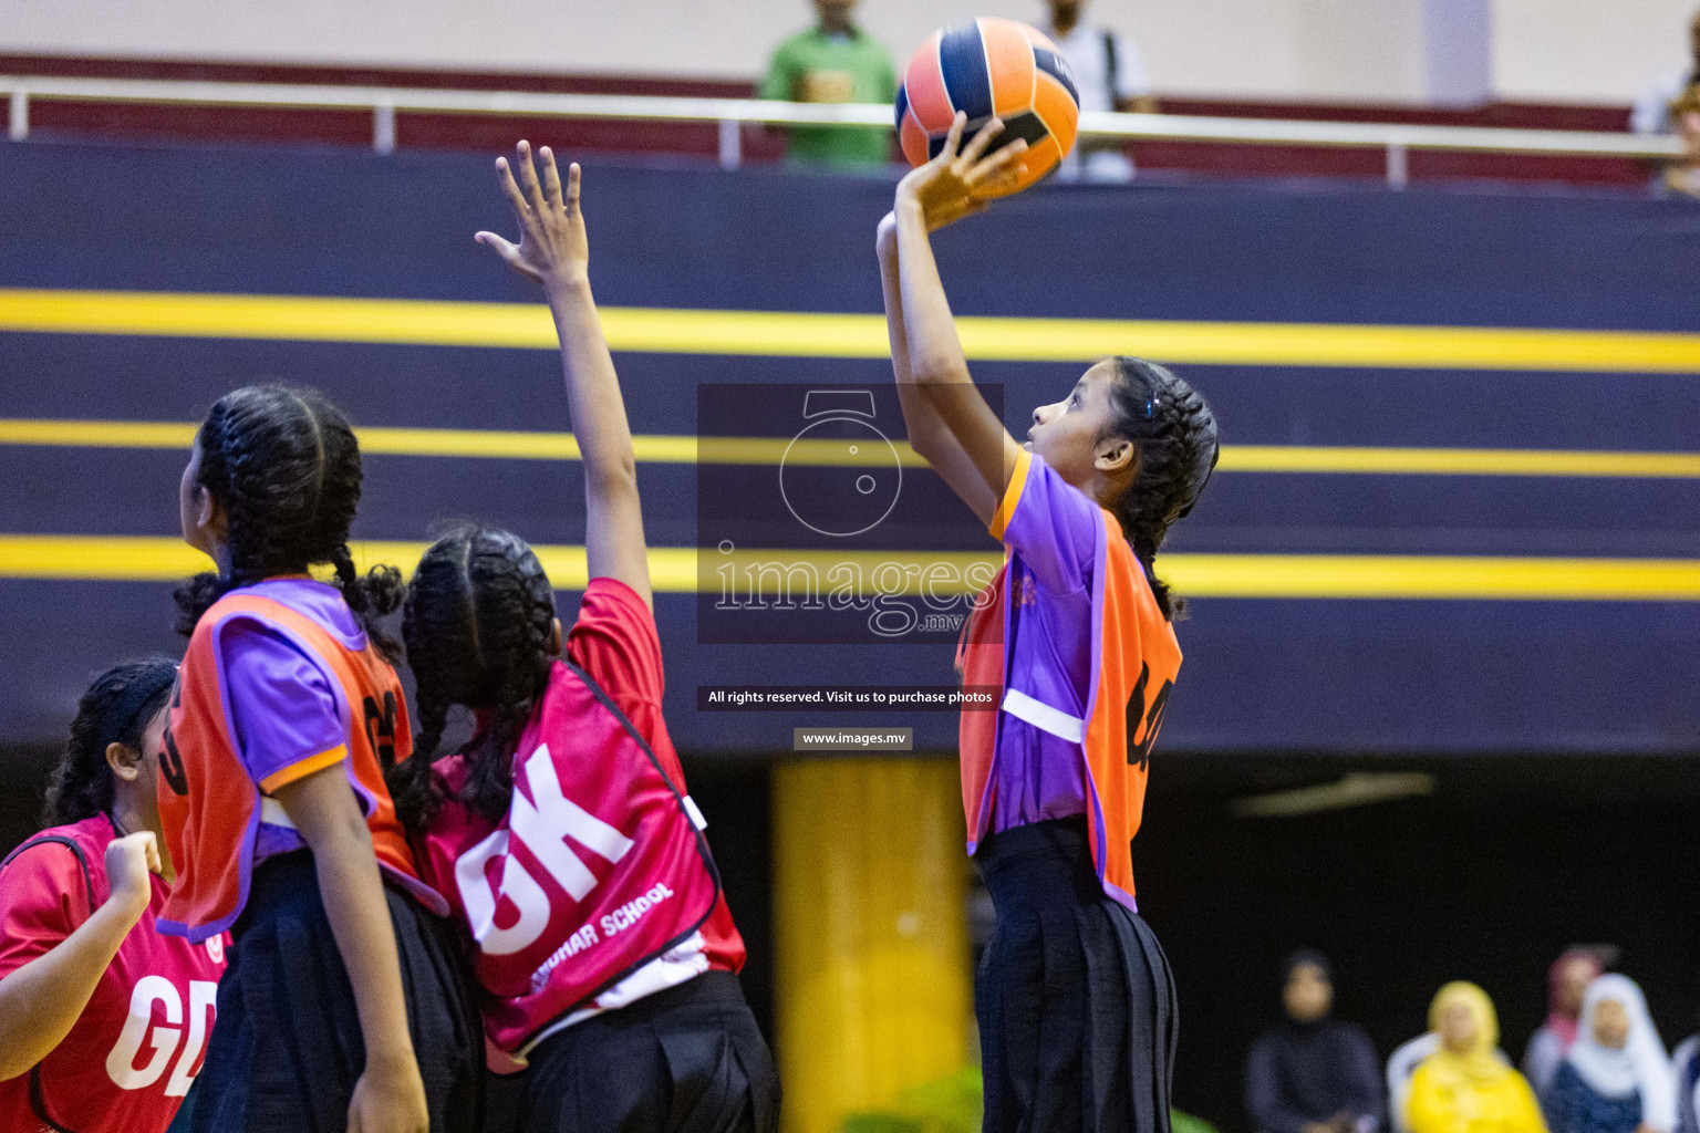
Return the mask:
[[[432,1133],[483,1119],[483,1033],[452,929],[384,885]],[[194,1133],[345,1133],[366,1041],[313,854],[267,858],[218,989]]]

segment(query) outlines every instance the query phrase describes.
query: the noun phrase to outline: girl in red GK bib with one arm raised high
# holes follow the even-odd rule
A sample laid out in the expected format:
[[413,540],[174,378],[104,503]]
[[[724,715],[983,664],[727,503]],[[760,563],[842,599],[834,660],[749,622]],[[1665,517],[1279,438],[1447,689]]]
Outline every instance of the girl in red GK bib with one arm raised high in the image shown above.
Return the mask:
[[469,744],[391,775],[420,871],[473,941],[484,1033],[527,1065],[493,1130],[768,1133],[779,1084],[736,972],[745,948],[661,719],[661,645],[631,428],[586,279],[578,166],[542,183],[520,143],[512,245],[478,240],[541,282],[561,335],[585,464],[590,584],[563,642],[537,555],[508,532],[437,540],[408,589],[418,754],[449,708]]

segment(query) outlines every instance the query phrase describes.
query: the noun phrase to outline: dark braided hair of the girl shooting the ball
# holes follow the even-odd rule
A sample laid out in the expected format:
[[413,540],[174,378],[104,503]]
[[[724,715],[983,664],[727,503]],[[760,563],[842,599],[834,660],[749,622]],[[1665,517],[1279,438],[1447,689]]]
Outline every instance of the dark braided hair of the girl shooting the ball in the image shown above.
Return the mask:
[[1112,511],[1132,544],[1164,618],[1185,613],[1187,603],[1156,576],[1158,547],[1175,520],[1187,518],[1216,469],[1216,416],[1204,397],[1168,367],[1117,355],[1110,384],[1114,420],[1107,437],[1134,442],[1139,462],[1134,482]]

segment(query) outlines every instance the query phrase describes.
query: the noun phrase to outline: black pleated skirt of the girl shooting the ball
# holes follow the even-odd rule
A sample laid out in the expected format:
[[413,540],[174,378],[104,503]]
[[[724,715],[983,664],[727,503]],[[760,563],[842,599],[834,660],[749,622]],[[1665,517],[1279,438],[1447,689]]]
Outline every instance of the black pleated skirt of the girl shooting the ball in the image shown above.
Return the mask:
[[1098,883],[1085,817],[1003,831],[974,858],[996,909],[974,975],[984,1133],[1170,1133],[1175,982]]

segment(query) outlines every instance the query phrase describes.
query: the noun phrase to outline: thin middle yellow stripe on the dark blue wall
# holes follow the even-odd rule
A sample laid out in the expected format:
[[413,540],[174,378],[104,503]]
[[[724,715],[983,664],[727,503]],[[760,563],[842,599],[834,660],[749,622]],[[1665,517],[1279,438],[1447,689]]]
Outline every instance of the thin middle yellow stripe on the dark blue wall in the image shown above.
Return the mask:
[[[369,454],[400,457],[479,457],[496,460],[578,460],[571,433],[464,428],[357,430]],[[196,426],[173,421],[48,421],[0,418],[0,445],[71,448],[184,448]],[[892,442],[904,467],[926,462],[908,442]],[[644,464],[831,464],[884,467],[889,454],[848,454],[842,442],[787,442],[758,437],[632,437]],[[787,448],[790,455],[785,457]],[[1693,452],[1586,452],[1562,448],[1350,448],[1321,445],[1229,445],[1224,472],[1343,472],[1402,476],[1595,476],[1700,479]]]

